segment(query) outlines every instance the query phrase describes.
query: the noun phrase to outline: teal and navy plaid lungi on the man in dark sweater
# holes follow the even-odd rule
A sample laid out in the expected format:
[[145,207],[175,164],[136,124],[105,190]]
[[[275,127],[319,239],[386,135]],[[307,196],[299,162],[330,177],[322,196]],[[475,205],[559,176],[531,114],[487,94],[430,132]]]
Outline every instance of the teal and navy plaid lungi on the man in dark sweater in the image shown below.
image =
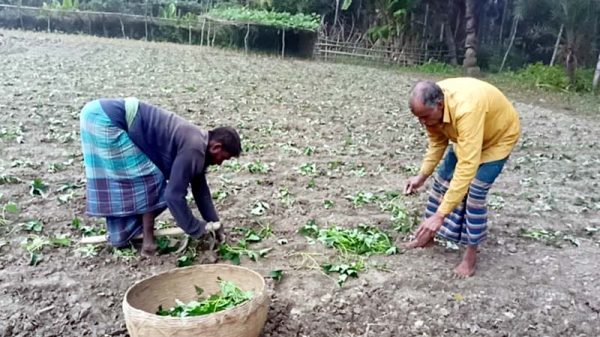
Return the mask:
[[114,125],[100,101],[85,105],[80,128],[87,179],[86,213],[106,217],[112,245],[127,245],[141,233],[144,213],[166,208],[166,181],[127,132]]

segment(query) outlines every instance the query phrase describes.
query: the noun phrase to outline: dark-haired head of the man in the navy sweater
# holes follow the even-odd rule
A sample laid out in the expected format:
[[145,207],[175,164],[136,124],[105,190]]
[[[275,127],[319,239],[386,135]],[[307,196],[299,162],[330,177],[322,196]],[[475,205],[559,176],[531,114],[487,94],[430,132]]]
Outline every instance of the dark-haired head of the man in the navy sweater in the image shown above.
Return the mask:
[[206,151],[208,165],[221,165],[231,157],[239,157],[240,153],[242,153],[240,135],[234,128],[223,126],[208,131]]

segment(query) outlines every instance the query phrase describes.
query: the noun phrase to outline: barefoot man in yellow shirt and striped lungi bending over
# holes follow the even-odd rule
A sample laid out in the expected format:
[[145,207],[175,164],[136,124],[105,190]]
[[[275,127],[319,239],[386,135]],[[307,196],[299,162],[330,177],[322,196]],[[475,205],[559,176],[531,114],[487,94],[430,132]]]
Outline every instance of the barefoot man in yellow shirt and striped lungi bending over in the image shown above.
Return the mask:
[[429,146],[419,174],[406,183],[406,194],[425,183],[453,144],[434,177],[426,219],[406,247],[429,246],[436,234],[465,244],[454,271],[471,276],[477,247],[486,237],[487,193],[519,139],[519,115],[500,90],[474,78],[418,82],[409,105],[427,129]]

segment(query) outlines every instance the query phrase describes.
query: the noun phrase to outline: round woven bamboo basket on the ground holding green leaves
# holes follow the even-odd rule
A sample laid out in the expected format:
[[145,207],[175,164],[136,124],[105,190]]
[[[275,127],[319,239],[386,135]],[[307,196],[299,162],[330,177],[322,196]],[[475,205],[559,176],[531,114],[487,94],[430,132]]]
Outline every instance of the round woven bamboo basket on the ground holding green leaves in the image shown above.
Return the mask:
[[[195,300],[194,286],[205,294],[219,291],[217,278],[253,291],[251,300],[231,309],[195,317],[156,315],[158,306],[170,308],[175,299]],[[123,299],[125,323],[131,337],[258,337],[267,320],[269,296],[264,278],[247,268],[197,265],[146,278],[127,290]]]

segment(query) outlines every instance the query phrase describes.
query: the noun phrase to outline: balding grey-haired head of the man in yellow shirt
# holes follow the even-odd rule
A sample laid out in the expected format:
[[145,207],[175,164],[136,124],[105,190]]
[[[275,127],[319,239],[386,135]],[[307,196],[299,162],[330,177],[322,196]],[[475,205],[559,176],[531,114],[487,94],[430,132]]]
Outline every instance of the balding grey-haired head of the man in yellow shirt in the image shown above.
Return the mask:
[[435,82],[417,82],[410,92],[408,105],[425,126],[439,125],[444,119],[444,92]]

